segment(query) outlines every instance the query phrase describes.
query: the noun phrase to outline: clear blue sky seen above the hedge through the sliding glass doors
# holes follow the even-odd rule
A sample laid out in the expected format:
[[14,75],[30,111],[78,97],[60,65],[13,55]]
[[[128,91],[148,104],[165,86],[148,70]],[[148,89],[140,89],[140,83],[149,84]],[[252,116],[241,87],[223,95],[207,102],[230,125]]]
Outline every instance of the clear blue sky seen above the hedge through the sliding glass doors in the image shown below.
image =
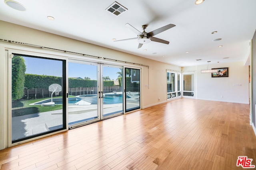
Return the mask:
[[[62,76],[62,61],[51,59],[40,59],[34,57],[23,57],[26,64],[27,74],[38,74],[47,76]],[[116,80],[120,68],[103,66],[103,76],[109,76]],[[90,77],[97,79],[97,65],[68,63],[68,77]]]

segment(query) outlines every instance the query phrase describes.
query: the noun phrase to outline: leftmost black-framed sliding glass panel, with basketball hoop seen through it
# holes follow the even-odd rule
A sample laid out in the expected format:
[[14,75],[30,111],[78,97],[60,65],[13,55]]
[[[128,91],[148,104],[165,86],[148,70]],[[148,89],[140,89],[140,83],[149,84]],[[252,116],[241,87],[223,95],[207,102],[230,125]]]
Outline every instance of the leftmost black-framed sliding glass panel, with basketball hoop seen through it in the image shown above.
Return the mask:
[[12,54],[9,66],[12,143],[66,129],[66,61]]

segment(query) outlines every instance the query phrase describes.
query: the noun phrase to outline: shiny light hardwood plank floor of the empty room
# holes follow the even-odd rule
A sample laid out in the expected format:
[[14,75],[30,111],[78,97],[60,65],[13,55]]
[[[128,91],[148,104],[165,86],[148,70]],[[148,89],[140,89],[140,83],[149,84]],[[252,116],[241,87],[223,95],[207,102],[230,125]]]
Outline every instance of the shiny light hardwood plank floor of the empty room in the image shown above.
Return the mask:
[[256,165],[249,105],[178,99],[0,150],[2,169],[234,170]]

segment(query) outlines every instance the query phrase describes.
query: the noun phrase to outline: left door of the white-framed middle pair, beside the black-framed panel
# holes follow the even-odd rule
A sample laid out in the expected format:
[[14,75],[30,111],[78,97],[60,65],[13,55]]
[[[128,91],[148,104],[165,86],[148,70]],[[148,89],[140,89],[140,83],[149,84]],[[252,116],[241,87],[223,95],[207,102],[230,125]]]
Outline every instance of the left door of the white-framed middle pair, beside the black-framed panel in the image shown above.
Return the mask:
[[68,63],[68,125],[70,128],[99,120],[96,63]]

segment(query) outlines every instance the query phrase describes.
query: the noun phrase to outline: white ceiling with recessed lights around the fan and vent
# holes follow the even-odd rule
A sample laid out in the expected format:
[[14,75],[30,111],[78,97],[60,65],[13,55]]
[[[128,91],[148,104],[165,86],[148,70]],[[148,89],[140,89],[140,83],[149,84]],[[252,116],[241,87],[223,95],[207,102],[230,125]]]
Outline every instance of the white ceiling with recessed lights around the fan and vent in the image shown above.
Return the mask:
[[[1,0],[0,20],[177,66],[244,61],[256,29],[256,0],[205,0],[200,5],[195,0],[117,0],[128,9],[119,16],[106,11],[114,0],[16,2],[27,10],[14,10]],[[136,37],[126,23],[140,31],[147,24],[146,32],[170,23],[176,26],[154,36],[170,44],[152,41],[138,49],[136,39],[112,41]],[[222,40],[213,41],[218,38]]]

